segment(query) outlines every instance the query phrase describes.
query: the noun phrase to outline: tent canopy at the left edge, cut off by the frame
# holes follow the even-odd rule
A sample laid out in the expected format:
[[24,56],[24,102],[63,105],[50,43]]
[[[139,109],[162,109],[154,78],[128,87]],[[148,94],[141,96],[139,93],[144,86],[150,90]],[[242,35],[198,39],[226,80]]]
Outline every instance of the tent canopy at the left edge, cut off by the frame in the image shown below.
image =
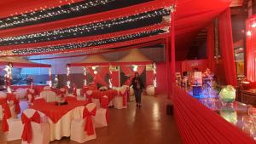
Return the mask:
[[12,63],[14,67],[51,67],[47,64],[39,64],[29,60],[16,57],[0,57],[0,66],[6,66]]

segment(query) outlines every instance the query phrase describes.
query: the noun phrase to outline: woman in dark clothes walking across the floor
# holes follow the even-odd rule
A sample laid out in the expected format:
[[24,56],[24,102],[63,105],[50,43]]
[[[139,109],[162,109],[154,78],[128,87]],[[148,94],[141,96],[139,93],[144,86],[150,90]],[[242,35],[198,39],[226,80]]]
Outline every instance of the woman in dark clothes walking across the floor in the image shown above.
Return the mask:
[[145,86],[138,72],[135,72],[135,76],[134,78],[132,78],[131,85],[132,85],[132,89],[134,90],[137,107],[142,107],[141,98],[142,98],[142,93]]

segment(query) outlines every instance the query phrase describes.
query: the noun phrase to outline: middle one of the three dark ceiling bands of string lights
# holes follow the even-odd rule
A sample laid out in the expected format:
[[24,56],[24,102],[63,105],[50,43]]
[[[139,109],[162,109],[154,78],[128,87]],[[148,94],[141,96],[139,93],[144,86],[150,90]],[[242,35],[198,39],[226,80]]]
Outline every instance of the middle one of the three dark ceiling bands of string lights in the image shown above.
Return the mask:
[[65,39],[70,37],[83,37],[84,35],[88,36],[88,33],[95,34],[96,31],[109,29],[113,26],[131,24],[138,20],[147,20],[155,17],[160,17],[166,14],[170,14],[170,11],[166,9],[158,9],[147,13],[135,14],[123,18],[102,21],[84,26],[73,26],[65,29],[58,29],[49,32],[39,32],[16,37],[2,37],[0,38],[0,45],[38,43],[57,39]]

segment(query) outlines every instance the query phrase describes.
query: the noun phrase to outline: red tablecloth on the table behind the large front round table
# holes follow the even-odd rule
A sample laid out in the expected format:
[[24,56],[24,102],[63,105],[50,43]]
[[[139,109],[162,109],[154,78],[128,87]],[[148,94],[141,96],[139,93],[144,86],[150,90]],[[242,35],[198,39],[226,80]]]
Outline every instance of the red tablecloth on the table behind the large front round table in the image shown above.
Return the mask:
[[106,91],[92,90],[92,96],[95,99],[101,99],[104,95],[107,95],[109,101],[111,101],[114,96],[118,95],[118,91],[114,89],[108,89]]

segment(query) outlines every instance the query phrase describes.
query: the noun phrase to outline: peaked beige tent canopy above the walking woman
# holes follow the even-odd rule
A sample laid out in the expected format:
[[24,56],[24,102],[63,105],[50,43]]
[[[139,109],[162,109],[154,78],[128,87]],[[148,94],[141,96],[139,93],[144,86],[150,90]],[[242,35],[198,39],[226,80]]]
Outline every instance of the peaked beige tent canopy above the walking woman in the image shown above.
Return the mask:
[[153,61],[148,59],[146,55],[143,55],[138,49],[131,49],[128,55],[125,55],[120,60],[112,62],[112,65],[148,65]]

